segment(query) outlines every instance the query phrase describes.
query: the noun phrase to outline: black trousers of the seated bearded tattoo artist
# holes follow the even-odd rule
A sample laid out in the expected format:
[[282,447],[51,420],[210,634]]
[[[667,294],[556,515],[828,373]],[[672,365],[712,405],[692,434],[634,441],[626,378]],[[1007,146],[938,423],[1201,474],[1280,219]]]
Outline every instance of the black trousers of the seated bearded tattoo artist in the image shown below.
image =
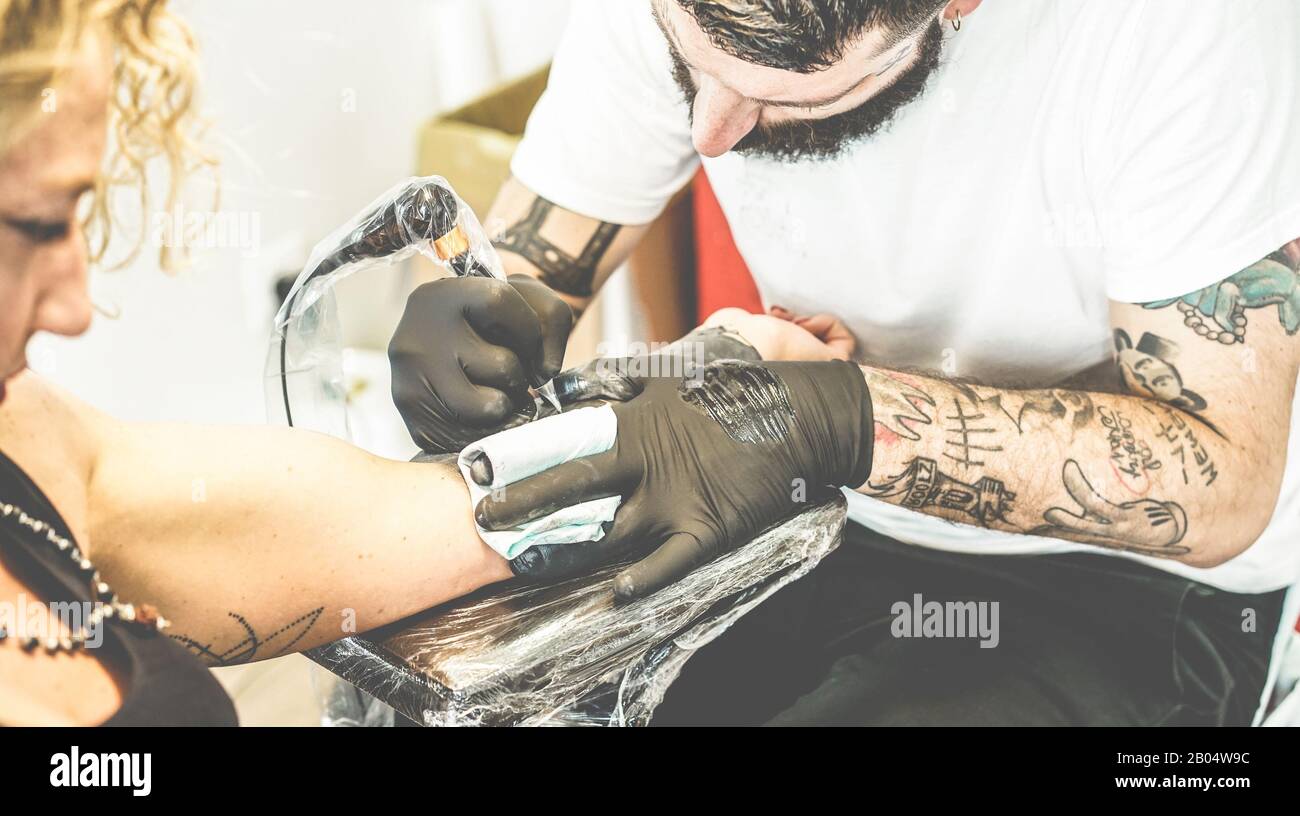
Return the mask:
[[[996,647],[896,637],[894,604],[916,594],[996,602]],[[811,574],[686,663],[653,724],[1248,725],[1283,595],[1108,555],[941,552],[850,524]]]

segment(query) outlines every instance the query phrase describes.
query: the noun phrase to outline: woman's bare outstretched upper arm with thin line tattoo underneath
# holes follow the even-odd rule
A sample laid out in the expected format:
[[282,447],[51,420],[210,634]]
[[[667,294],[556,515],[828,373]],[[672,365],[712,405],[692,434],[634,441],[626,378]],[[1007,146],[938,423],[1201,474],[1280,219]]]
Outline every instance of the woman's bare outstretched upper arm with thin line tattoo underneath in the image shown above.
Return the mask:
[[511,576],[454,468],[294,429],[98,426],[91,557],[208,663],[320,646]]

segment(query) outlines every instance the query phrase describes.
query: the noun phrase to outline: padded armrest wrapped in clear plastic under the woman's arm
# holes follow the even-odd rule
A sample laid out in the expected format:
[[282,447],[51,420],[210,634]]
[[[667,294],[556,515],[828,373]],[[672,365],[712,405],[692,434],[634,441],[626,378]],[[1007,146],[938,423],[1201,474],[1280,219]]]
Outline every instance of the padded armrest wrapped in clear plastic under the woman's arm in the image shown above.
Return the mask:
[[317,648],[346,681],[320,689],[326,721],[385,722],[384,700],[422,725],[646,725],[690,656],[816,567],[844,522],[836,492],[629,604],[615,606],[608,569],[498,587]]

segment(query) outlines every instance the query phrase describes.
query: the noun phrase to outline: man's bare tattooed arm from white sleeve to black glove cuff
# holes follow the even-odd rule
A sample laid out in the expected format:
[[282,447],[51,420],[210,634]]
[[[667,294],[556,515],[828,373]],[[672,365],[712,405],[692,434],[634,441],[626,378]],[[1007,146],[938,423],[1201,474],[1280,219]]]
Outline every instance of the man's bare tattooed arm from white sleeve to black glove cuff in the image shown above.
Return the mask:
[[[1280,487],[1300,369],[1297,269],[1292,242],[1183,298],[1113,303],[1123,394],[864,366],[876,442],[858,490],[988,529],[1196,567],[1231,559],[1266,526]],[[1277,320],[1252,318],[1225,342],[1176,304],[1223,331],[1244,326],[1243,313]]]

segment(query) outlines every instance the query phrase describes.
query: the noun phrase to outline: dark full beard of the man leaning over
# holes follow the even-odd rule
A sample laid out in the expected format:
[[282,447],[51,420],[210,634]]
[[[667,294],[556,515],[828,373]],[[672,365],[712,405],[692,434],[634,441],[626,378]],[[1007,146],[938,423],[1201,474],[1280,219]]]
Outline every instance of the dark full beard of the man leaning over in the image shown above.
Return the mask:
[[[755,126],[732,149],[745,156],[777,161],[836,159],[855,143],[883,130],[901,108],[922,95],[931,74],[939,68],[942,51],[944,29],[936,19],[920,40],[916,61],[867,101],[824,120],[792,120]],[[694,122],[697,90],[685,64],[676,55],[672,74],[686,97]]]

